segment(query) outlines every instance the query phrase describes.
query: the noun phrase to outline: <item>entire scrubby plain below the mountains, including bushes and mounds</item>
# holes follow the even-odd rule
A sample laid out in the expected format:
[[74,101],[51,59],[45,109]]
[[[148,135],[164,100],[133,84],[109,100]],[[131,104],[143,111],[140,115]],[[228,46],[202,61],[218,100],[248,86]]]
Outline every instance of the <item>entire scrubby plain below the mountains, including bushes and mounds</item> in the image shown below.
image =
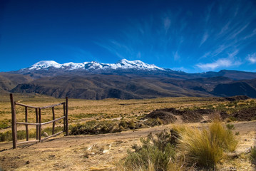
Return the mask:
[[[34,106],[63,102],[43,95],[16,94],[14,98]],[[232,167],[250,170],[255,165],[255,99],[69,99],[71,136],[58,135],[53,141],[18,148],[15,152],[8,150],[11,149],[8,95],[0,97],[0,105],[0,161],[4,170],[19,167],[84,170],[84,166],[87,170],[232,170]],[[24,108],[17,106],[16,113],[17,120],[24,122]],[[63,108],[56,108],[55,113],[56,118],[61,117]],[[29,122],[35,119],[35,111],[29,110]],[[42,122],[51,119],[51,110],[42,110]],[[43,125],[42,137],[51,135],[51,126]],[[63,120],[56,123],[56,133],[61,130]],[[29,140],[35,138],[36,128],[29,126]],[[25,126],[18,125],[18,140],[25,139]],[[48,162],[38,162],[30,148],[41,149],[42,160]],[[22,160],[16,158],[18,154]],[[58,159],[58,165],[51,162],[52,158]],[[5,162],[7,159],[10,162]],[[26,165],[24,160],[31,164]]]

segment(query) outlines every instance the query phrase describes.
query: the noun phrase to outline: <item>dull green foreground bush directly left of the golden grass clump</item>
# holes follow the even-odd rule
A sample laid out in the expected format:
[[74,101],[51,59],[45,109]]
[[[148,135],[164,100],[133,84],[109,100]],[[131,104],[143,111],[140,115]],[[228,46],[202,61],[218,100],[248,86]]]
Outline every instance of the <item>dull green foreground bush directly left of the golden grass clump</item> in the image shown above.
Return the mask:
[[166,130],[148,138],[141,138],[142,146],[133,145],[133,152],[128,151],[124,165],[125,170],[165,171],[175,158],[175,145],[170,133]]

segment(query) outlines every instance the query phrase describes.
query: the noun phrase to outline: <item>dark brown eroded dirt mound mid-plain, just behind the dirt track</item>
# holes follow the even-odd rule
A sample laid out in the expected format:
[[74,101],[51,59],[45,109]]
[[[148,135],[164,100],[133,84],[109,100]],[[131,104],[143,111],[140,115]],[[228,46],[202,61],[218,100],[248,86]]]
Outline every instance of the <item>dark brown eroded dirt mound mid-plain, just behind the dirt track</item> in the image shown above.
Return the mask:
[[214,110],[198,109],[198,110],[177,110],[175,108],[164,108],[154,110],[149,113],[145,118],[159,118],[163,120],[164,124],[175,123],[176,116],[179,116],[184,123],[197,123],[203,120],[203,115],[210,115]]

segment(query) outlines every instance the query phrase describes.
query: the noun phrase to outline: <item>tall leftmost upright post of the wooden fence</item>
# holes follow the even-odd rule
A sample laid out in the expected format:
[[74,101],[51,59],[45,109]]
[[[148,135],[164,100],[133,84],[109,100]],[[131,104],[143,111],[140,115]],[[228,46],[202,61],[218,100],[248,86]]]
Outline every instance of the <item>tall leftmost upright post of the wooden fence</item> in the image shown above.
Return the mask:
[[14,103],[14,96],[10,93],[10,100],[11,100],[11,133],[12,133],[12,145],[13,148],[17,147],[17,130],[16,130],[16,110],[15,110],[15,103]]

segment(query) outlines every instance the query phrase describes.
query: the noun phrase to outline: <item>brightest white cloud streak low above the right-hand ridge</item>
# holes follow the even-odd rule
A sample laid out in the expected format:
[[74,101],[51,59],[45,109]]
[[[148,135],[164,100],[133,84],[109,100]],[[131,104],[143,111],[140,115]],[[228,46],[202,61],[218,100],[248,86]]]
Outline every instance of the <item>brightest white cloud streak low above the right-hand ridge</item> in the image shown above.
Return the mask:
[[229,68],[231,66],[240,66],[241,64],[240,61],[235,61],[231,58],[219,58],[213,63],[198,63],[196,67],[200,68],[202,71],[215,71],[217,68]]

